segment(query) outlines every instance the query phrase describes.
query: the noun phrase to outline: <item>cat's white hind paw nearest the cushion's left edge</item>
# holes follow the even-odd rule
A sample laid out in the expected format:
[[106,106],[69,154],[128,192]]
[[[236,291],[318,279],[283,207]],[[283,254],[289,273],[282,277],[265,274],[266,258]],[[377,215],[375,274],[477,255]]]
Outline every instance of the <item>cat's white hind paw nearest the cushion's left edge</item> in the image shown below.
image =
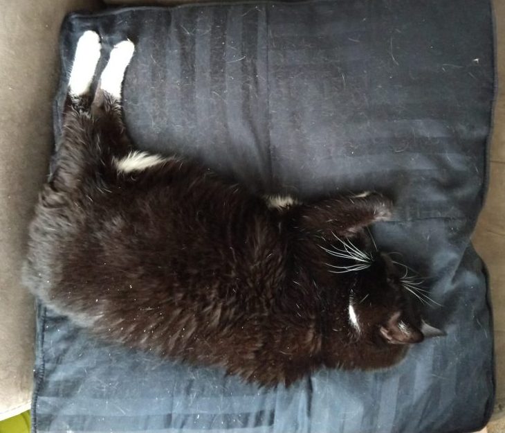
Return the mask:
[[93,30],[85,31],[79,38],[68,82],[73,96],[82,96],[89,92],[101,49],[100,36]]

